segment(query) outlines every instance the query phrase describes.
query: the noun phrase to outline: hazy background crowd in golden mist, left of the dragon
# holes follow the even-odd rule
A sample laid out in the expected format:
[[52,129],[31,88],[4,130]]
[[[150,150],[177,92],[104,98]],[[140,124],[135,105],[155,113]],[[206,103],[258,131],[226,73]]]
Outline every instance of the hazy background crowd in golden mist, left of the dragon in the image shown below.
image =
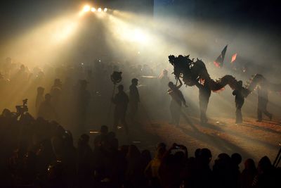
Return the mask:
[[166,101],[162,97],[166,97],[169,82],[166,70],[160,74],[164,68],[164,65],[152,68],[147,64],[98,59],[91,63],[41,65],[31,70],[6,58],[0,62],[0,109],[14,109],[22,99],[28,99],[28,112],[32,116],[55,120],[74,134],[80,134],[105,120],[113,124],[105,111],[110,111],[114,85],[110,75],[114,71],[122,72],[119,84],[124,85],[124,92],[129,90],[131,79],[138,77],[141,89],[147,93],[143,92],[143,101],[158,106],[160,101]]

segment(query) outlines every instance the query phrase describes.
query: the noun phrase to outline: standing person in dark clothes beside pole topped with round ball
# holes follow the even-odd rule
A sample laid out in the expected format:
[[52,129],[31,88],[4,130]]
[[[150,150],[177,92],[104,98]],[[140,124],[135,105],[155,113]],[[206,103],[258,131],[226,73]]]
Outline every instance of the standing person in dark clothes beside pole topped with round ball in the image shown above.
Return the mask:
[[126,133],[129,133],[128,125],[126,123],[126,110],[129,104],[129,97],[124,92],[124,86],[119,84],[118,93],[115,94],[115,97],[112,98],[112,102],[115,104],[115,112],[114,112],[114,125],[113,131],[116,132],[117,125],[119,121],[121,121],[122,125],[124,125]]

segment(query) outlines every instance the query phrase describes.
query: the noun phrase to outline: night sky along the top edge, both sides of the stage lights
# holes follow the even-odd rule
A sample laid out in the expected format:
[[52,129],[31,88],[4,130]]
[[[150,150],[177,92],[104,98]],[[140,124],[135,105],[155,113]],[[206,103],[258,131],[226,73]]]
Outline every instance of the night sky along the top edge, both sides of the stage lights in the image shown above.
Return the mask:
[[[99,0],[101,4],[114,4],[118,8],[128,5],[140,11],[141,4],[150,6],[152,0]],[[37,23],[44,22],[62,11],[78,8],[82,0],[4,0],[0,6],[0,39],[18,34]],[[121,2],[121,3],[120,3]],[[201,20],[240,23],[280,29],[281,6],[278,1],[267,0],[155,0],[155,6],[165,4],[167,12],[195,16]],[[143,6],[145,9],[145,6]],[[176,8],[175,8],[176,7]],[[179,7],[179,9],[178,9]],[[192,7],[192,11],[190,11]],[[189,9],[188,9],[189,8]],[[189,10],[189,11],[187,11]]]

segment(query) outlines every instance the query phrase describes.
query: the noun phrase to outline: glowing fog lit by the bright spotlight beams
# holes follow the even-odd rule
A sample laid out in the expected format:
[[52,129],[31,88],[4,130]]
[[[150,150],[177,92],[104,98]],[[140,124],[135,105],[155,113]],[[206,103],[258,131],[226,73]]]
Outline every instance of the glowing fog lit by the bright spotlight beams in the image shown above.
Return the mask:
[[[224,65],[216,68],[213,62],[227,44]],[[269,82],[280,83],[280,36],[271,27],[247,27],[237,24],[237,20],[230,24],[176,14],[153,16],[114,8],[109,8],[106,13],[83,13],[81,6],[74,6],[71,10],[49,15],[48,19],[44,18],[42,22],[17,32],[17,35],[6,37],[0,51],[1,62],[4,63],[6,57],[11,57],[13,61],[7,73],[3,68],[1,70],[2,75],[10,80],[6,83],[8,92],[1,94],[1,110],[10,108],[14,111],[16,104],[28,98],[30,113],[36,116],[34,101],[40,71],[44,73],[40,86],[45,87],[45,93],[51,89],[53,80],[59,78],[63,88],[68,89],[64,98],[72,94],[71,88],[77,80],[86,79],[92,97],[87,107],[88,129],[112,123],[107,115],[113,89],[110,82],[113,70],[123,72],[121,83],[125,90],[129,89],[133,77],[139,79],[143,119],[169,120],[169,107],[166,105],[163,109],[161,104],[169,104],[170,99],[168,96],[163,98],[164,90],[159,89],[157,77],[166,69],[170,80],[175,82],[171,74],[173,67],[168,61],[170,54],[190,54],[191,58],[202,59],[214,80],[230,74],[246,84],[251,75],[260,73]],[[237,60],[231,64],[235,53]],[[17,77],[22,64],[26,66],[26,82],[19,82]],[[149,68],[144,70],[138,65],[148,65]],[[184,113],[198,117],[197,87],[182,87],[181,91],[189,106],[183,110]],[[230,87],[218,93],[212,92],[207,111],[209,118],[235,118],[235,102],[231,93]],[[270,92],[269,101],[268,111],[280,118],[280,93]],[[244,117],[256,117],[256,104],[256,92],[253,92],[242,108]],[[66,100],[60,111],[71,108],[77,107]],[[66,114],[63,113],[65,118],[62,119],[65,120],[60,123],[69,123]]]

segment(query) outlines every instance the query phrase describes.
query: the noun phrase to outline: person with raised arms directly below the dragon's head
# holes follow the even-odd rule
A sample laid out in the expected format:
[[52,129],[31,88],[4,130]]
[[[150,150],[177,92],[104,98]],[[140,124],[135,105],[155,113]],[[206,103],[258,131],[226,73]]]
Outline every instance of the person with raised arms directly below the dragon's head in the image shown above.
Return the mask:
[[[179,79],[178,79],[179,80]],[[185,107],[185,99],[182,92],[179,90],[183,83],[179,80],[180,84],[176,86],[173,82],[169,82],[168,94],[171,96],[170,112],[171,112],[171,124],[178,125],[181,117],[181,105]]]

